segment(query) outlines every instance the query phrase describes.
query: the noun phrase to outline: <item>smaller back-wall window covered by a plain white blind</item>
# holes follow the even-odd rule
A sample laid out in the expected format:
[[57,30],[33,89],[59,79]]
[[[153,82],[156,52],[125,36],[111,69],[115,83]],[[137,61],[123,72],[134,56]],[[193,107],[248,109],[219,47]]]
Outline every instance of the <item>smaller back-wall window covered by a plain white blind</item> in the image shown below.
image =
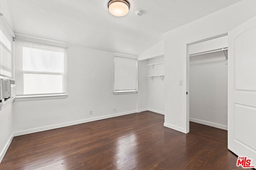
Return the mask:
[[114,58],[114,93],[137,92],[137,60]]

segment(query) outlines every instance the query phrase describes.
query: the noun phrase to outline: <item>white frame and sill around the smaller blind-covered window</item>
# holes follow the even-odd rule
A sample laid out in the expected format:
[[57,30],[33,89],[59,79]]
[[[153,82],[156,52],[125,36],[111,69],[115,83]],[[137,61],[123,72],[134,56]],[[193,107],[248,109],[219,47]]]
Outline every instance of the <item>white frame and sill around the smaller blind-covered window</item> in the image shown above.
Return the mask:
[[[135,90],[116,90],[116,83],[115,83],[115,57],[125,58],[125,59],[132,59],[136,61],[136,89]],[[132,55],[123,55],[123,54],[115,54],[113,59],[113,94],[137,94],[138,93],[138,59],[136,56]]]

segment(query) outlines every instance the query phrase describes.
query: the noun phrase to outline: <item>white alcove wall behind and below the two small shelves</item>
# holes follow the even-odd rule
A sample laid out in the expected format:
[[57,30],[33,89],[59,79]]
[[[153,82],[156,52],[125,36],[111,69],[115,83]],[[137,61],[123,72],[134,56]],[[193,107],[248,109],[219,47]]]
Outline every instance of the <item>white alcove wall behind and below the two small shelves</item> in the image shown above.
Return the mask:
[[[146,60],[147,64],[164,62],[164,56]],[[147,66],[147,75],[164,75],[164,64]],[[164,80],[148,77],[148,110],[164,114]]]

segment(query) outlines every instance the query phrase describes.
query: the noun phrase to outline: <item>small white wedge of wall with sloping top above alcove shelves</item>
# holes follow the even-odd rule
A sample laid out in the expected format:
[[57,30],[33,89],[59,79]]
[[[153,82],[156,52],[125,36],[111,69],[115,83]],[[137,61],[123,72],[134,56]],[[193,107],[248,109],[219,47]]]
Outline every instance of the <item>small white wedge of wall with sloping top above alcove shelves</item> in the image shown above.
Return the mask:
[[164,55],[164,40],[156,43],[138,56],[138,60],[146,60],[152,57]]

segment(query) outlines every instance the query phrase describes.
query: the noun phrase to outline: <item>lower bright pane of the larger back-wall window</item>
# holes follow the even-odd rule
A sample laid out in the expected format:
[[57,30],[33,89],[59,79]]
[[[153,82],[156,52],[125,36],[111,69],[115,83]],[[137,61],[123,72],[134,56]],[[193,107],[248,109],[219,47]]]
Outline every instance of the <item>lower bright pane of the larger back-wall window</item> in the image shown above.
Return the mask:
[[23,74],[24,94],[62,93],[62,75]]

